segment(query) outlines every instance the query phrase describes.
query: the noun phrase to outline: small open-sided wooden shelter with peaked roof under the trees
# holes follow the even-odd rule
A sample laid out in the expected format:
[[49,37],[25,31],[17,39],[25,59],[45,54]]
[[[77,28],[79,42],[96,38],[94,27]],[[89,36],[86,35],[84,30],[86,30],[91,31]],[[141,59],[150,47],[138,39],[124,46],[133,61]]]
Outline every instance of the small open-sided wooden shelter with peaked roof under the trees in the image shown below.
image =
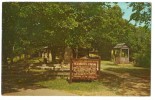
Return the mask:
[[129,63],[129,47],[125,43],[119,43],[111,51],[112,60],[115,64]]

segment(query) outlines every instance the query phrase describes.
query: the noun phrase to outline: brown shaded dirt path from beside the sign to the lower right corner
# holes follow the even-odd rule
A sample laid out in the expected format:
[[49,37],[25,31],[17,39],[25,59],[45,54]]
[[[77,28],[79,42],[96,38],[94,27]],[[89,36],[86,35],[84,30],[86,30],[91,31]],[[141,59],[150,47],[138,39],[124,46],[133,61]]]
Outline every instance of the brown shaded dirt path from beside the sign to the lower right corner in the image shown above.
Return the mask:
[[119,86],[119,93],[122,95],[132,96],[150,96],[150,80],[147,77],[135,77],[131,76],[130,73],[116,73],[113,71],[104,70],[104,73],[115,75],[123,81]]

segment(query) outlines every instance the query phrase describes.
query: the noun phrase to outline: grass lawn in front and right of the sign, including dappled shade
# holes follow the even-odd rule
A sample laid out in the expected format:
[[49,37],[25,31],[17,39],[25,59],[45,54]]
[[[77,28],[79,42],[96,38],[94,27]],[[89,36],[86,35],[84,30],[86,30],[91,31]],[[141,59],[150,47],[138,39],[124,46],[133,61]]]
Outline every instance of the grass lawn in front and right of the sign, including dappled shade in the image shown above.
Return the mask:
[[150,95],[150,69],[102,61],[100,81],[69,84],[66,79],[55,79],[36,84],[78,95]]

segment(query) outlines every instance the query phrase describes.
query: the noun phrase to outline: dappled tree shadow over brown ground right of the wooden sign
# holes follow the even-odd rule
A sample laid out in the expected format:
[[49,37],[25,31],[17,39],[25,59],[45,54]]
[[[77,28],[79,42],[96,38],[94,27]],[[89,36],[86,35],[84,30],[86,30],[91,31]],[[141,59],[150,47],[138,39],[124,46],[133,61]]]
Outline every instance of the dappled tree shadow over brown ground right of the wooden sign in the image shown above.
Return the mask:
[[101,72],[101,81],[117,95],[150,95],[150,69],[108,68],[106,70],[115,72],[116,75]]

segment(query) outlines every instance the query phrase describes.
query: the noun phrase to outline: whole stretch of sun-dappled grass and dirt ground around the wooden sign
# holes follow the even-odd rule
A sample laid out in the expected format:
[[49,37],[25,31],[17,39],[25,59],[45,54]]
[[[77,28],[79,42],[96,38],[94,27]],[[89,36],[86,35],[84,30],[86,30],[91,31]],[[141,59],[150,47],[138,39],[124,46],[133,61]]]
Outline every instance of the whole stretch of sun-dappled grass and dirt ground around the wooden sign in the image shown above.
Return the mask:
[[[28,66],[23,62],[11,68],[3,66],[3,95],[150,95],[150,69],[133,67],[131,64],[114,65],[102,61],[99,81],[73,84],[67,82],[67,71],[59,77],[61,79],[57,79],[58,74],[52,70],[29,70]],[[55,94],[52,91],[56,91]]]

